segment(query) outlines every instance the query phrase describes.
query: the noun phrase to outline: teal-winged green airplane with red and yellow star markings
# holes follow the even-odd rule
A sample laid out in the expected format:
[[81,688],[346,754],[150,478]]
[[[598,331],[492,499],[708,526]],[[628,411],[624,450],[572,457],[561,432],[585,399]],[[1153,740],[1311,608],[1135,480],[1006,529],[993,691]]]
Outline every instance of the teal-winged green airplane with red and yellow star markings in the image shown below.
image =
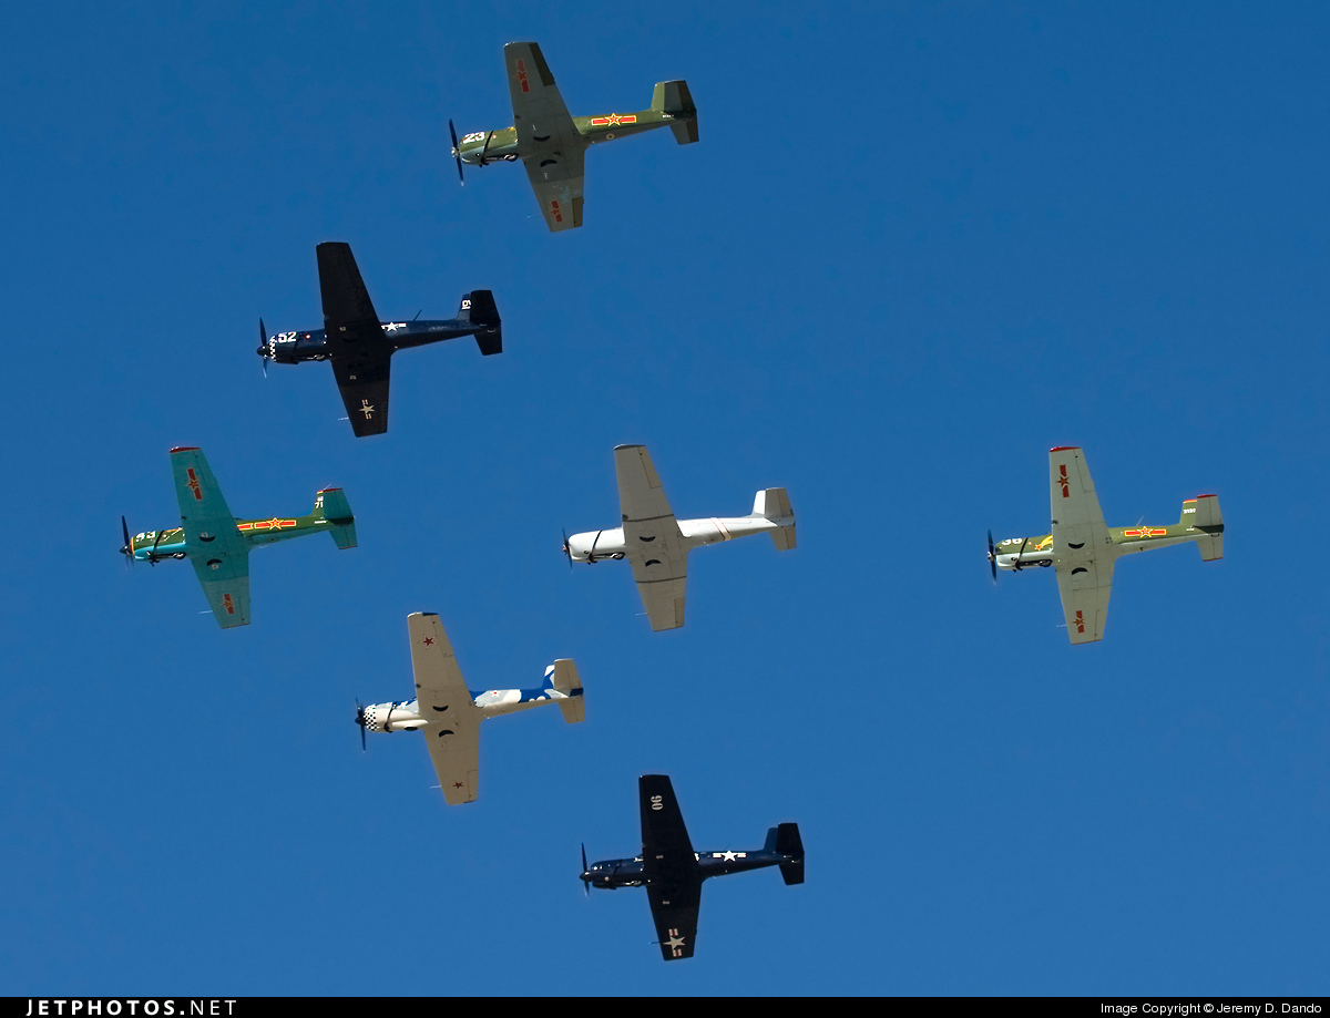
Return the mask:
[[340,488],[325,488],[314,496],[309,516],[242,520],[231,516],[201,449],[170,451],[180,501],[180,526],[129,536],[120,517],[130,562],[157,565],[164,558],[188,558],[222,629],[249,625],[249,553],[255,548],[319,532],[332,534],[340,549],[355,548],[355,517]]

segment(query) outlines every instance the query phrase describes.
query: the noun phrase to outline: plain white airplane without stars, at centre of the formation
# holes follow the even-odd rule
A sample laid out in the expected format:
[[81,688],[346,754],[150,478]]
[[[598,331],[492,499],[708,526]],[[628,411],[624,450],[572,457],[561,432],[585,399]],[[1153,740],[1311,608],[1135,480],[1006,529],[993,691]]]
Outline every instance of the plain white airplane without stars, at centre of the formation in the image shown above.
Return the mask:
[[684,625],[688,553],[747,534],[769,533],[777,550],[794,548],[794,510],[783,488],[758,492],[750,516],[676,520],[645,445],[614,448],[622,526],[564,538],[569,562],[628,558],[646,617],[657,633]]

